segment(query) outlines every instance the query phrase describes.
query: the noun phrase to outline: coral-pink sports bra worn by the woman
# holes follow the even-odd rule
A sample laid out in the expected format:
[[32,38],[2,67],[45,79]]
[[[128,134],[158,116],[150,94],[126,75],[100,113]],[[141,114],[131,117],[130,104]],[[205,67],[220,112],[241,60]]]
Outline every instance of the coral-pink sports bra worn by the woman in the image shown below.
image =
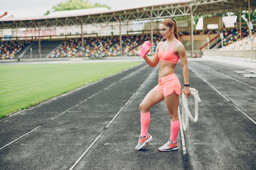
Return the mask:
[[174,53],[174,47],[175,45],[177,44],[177,42],[179,42],[179,40],[177,40],[173,46],[171,46],[170,49],[166,50],[166,51],[162,51],[161,48],[163,46],[163,44],[160,46],[159,48],[159,51],[158,51],[158,58],[159,58],[159,61],[163,61],[163,62],[171,62],[171,63],[174,63],[174,64],[177,64],[177,62],[179,61],[180,57],[177,56],[175,53]]

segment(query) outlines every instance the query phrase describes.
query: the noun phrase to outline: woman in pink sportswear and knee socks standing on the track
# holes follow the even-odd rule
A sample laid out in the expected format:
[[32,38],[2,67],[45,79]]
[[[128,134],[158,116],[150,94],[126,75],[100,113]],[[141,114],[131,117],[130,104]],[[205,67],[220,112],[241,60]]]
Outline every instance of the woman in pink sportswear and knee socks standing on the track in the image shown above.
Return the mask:
[[[152,59],[147,55],[143,57],[151,67],[155,67],[159,63],[159,83],[148,92],[139,105],[141,133],[135,150],[140,150],[152,139],[152,136],[148,134],[148,125],[150,122],[149,108],[162,100],[165,100],[168,113],[171,117],[171,137],[167,143],[158,148],[158,150],[170,151],[178,149],[176,139],[180,130],[180,119],[178,115],[179,95],[180,93],[184,93],[186,97],[190,95],[186,51],[183,44],[179,41],[176,20],[163,20],[160,23],[160,31],[166,41],[157,44],[155,55]],[[184,88],[182,91],[180,81],[174,73],[175,66],[179,59],[184,78]]]

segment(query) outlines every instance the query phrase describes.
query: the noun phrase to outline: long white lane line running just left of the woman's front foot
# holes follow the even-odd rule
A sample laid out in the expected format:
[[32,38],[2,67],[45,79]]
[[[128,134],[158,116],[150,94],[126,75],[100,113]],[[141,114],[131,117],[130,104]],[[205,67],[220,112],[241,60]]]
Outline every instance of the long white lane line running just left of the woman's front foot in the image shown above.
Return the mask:
[[[145,66],[144,66],[145,67]],[[141,68],[142,69],[142,68]],[[140,70],[140,69],[139,69]],[[132,75],[132,74],[131,74]],[[128,76],[131,76],[128,75]],[[152,74],[150,74],[152,75]],[[126,77],[128,77],[126,76]],[[110,126],[110,124],[112,124],[112,122],[115,120],[115,118],[119,115],[119,113],[121,113],[122,110],[124,110],[125,106],[130,102],[130,100],[135,96],[135,94],[139,91],[139,89],[147,82],[147,80],[149,79],[150,76],[148,76],[148,78],[146,79],[146,81],[144,81],[141,86],[139,86],[139,88],[137,89],[137,91],[135,91],[135,93],[133,93],[133,95],[130,97],[130,99],[128,99],[128,101],[126,102],[126,104],[124,104],[124,106],[119,110],[119,112],[115,115],[115,117],[109,122],[109,124],[106,126],[106,128],[104,130],[102,130],[102,132],[97,136],[97,138],[92,142],[92,144],[90,144],[90,146],[83,152],[83,154],[76,160],[76,162],[72,165],[72,167],[69,170],[72,170],[77,163],[79,163],[79,161],[83,158],[83,156],[88,152],[88,150],[90,150],[90,148],[94,145],[94,143],[99,139],[99,137],[101,137],[101,135],[103,134],[103,132],[105,132],[105,130]],[[123,78],[124,79],[124,78]],[[121,80],[120,80],[121,81]]]

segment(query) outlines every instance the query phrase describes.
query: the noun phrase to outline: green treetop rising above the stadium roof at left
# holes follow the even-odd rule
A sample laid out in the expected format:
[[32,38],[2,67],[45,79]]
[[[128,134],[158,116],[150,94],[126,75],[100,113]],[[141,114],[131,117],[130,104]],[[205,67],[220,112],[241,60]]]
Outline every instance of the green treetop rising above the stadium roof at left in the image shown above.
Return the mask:
[[[54,5],[52,7],[53,12],[55,11],[68,11],[68,10],[74,10],[74,9],[88,9],[88,8],[99,8],[99,7],[106,7],[108,9],[111,9],[106,4],[99,4],[95,3],[92,4],[89,0],[67,0],[65,2],[60,2],[57,5]],[[50,11],[48,10],[44,15],[48,15]]]

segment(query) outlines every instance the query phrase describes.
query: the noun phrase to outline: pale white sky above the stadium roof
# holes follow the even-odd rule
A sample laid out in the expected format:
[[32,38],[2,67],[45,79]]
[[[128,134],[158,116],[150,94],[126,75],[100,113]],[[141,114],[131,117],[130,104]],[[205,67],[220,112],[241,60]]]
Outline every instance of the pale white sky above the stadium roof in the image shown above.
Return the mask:
[[[7,12],[15,18],[43,16],[54,5],[67,0],[1,0],[0,15]],[[155,4],[167,4],[170,0],[89,0],[92,4],[98,2],[111,7],[111,10],[122,10],[145,7]],[[179,1],[179,0],[172,0]]]

